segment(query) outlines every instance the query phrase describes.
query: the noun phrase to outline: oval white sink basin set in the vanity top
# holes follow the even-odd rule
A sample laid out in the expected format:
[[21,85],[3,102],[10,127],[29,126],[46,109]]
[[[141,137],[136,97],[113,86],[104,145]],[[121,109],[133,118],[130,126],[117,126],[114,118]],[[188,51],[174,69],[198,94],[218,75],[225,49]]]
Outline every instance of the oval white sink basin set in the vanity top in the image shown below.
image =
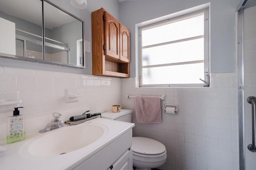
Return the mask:
[[84,148],[108,133],[108,128],[100,124],[62,127],[39,135],[25,143],[22,156],[56,156]]

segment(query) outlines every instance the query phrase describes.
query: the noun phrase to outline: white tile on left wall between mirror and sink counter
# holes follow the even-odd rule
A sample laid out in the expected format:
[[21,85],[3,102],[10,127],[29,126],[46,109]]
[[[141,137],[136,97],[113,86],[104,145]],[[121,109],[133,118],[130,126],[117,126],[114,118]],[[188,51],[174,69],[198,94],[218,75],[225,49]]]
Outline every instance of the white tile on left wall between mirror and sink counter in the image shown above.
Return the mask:
[[[0,66],[0,82],[0,100],[16,91],[22,100],[19,105],[0,106],[0,124],[6,123],[16,106],[24,107],[20,114],[30,118],[84,106],[91,113],[104,112],[122,103],[120,78]],[[83,96],[78,102],[66,103],[65,89],[77,89]]]

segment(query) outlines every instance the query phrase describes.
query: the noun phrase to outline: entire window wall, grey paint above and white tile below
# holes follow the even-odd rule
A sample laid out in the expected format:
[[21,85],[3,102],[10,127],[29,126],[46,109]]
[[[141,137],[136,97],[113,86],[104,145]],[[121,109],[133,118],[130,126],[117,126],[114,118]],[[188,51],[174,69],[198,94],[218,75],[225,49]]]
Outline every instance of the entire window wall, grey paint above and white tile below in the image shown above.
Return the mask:
[[[136,88],[135,24],[210,2],[211,88]],[[235,18],[240,0],[124,1],[120,21],[131,31],[132,78],[122,80],[122,103],[133,109],[134,136],[156,139],[167,148],[163,170],[238,170],[238,99]],[[232,73],[220,73],[232,72]],[[166,94],[162,122],[137,123],[131,95]],[[178,104],[179,115],[164,114],[164,104]]]

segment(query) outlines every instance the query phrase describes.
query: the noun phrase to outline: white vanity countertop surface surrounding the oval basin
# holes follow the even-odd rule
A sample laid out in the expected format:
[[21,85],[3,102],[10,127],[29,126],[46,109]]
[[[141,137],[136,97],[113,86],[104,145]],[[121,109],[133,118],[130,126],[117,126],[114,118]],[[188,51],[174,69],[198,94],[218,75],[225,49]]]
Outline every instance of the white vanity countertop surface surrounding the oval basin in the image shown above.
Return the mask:
[[[101,137],[84,148],[56,156],[24,156],[20,152],[24,144],[40,135],[47,135],[54,131],[61,130],[62,128],[70,128],[72,126],[96,124],[106,126],[108,128],[108,133],[104,135],[104,137]],[[48,131],[44,134],[38,132],[24,141],[5,145],[4,147],[6,148],[6,151],[2,152],[2,155],[0,155],[1,170],[71,170],[76,165],[84,162],[84,160],[88,159],[90,156],[112,143],[112,141],[131,130],[132,127],[134,127],[134,123],[126,123],[97,117],[96,119],[72,126],[64,125],[62,128]]]

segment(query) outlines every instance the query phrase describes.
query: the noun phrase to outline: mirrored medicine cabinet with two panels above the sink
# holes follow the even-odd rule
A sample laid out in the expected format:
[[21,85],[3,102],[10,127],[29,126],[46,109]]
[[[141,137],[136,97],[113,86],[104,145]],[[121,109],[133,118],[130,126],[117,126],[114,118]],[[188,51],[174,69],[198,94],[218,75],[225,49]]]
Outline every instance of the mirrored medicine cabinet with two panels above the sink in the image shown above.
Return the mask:
[[0,0],[0,57],[84,68],[84,21],[48,0]]

